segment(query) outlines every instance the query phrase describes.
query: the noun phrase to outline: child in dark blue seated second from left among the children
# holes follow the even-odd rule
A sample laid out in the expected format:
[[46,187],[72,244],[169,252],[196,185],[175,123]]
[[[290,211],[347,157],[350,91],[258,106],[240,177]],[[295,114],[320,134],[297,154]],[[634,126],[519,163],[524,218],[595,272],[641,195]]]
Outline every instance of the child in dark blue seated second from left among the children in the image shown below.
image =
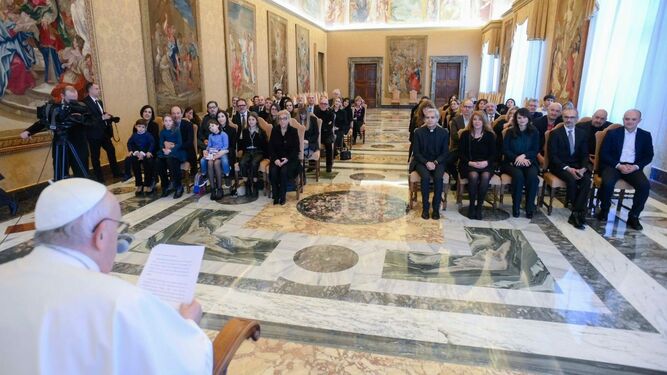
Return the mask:
[[162,121],[164,129],[160,132],[157,153],[162,197],[175,191],[174,198],[180,198],[183,195],[181,163],[186,160],[181,132],[174,126],[171,115],[165,115]]

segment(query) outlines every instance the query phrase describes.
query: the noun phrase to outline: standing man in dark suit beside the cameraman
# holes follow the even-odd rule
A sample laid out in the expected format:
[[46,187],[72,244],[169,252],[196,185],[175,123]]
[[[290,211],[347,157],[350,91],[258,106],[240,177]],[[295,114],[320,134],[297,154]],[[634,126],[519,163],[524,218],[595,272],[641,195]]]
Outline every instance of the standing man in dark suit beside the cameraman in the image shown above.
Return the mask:
[[99,99],[100,86],[97,83],[89,82],[86,84],[86,92],[88,96],[83,99],[83,102],[90,111],[88,117],[88,126],[86,127],[86,138],[88,138],[88,145],[90,146],[90,161],[93,164],[93,171],[97,181],[104,183],[104,176],[102,175],[102,167],[100,167],[100,147],[107,152],[109,165],[111,166],[111,173],[114,177],[121,177],[122,173],[118,168],[116,162],[116,149],[113,147],[111,138],[113,137],[113,128],[111,123],[118,122],[118,117],[113,117],[104,111],[104,105]]

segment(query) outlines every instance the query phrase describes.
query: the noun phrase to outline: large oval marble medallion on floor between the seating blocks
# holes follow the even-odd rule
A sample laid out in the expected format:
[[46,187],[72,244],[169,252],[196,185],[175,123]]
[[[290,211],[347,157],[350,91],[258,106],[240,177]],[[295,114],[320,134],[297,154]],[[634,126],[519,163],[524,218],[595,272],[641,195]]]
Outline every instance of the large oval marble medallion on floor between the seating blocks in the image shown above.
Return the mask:
[[405,216],[407,203],[370,191],[332,191],[306,197],[296,207],[302,215],[336,224],[377,224]]

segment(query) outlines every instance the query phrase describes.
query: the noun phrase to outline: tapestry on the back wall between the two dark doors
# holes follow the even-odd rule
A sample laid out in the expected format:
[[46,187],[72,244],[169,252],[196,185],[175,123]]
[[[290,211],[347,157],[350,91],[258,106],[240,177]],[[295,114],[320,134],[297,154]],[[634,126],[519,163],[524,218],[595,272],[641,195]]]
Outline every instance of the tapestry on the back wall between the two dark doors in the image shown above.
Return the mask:
[[398,90],[401,98],[409,98],[410,91],[417,96],[424,92],[423,79],[426,72],[427,36],[387,37],[387,82],[384,95],[393,96]]

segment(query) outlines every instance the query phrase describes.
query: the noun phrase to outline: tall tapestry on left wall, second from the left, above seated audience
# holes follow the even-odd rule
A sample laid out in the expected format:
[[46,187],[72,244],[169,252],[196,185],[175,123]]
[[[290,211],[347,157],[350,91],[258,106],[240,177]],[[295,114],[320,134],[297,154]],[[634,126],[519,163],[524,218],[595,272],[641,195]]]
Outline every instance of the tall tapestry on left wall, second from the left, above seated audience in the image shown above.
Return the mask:
[[148,98],[158,113],[202,107],[197,0],[141,0]]

